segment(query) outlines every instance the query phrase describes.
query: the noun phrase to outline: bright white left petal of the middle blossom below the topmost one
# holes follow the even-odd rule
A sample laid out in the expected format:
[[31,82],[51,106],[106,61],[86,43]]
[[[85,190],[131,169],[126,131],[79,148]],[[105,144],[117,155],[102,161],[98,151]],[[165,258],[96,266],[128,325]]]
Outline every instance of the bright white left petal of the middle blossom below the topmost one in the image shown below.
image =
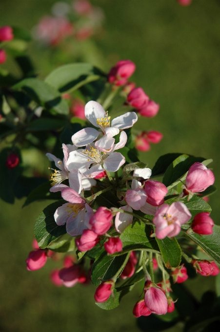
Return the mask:
[[71,169],[80,169],[81,174],[83,174],[89,169],[89,166],[94,163],[94,161],[82,151],[84,150],[79,149],[70,152],[66,163],[69,171]]

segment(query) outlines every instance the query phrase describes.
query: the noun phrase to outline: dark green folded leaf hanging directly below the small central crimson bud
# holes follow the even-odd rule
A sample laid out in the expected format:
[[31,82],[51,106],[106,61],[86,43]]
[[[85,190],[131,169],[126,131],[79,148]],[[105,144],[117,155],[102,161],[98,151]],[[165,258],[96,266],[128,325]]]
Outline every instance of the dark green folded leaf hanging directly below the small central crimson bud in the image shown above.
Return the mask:
[[91,279],[95,286],[99,286],[101,280],[110,280],[118,272],[125,262],[127,254],[121,256],[108,256],[104,249],[100,250],[91,271]]

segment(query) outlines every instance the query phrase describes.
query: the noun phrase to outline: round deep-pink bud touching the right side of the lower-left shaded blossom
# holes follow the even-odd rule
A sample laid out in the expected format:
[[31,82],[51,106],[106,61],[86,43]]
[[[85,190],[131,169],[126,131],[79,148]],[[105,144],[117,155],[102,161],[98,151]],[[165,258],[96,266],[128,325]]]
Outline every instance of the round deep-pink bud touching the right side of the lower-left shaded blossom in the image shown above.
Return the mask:
[[99,207],[89,220],[91,229],[102,235],[112,226],[113,215],[106,207]]

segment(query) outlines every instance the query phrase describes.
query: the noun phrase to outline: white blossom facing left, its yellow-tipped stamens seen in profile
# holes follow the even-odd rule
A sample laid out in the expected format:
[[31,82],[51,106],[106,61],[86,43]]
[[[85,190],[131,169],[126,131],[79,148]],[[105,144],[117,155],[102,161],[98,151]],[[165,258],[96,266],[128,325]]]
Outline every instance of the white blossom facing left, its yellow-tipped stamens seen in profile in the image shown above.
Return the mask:
[[[54,156],[51,153],[46,153],[46,156],[50,161],[54,161],[55,165],[60,169],[54,169],[54,173],[51,175],[52,187],[50,188],[50,191],[56,192],[56,186],[63,182],[66,179],[69,179],[69,185],[72,189],[77,191],[78,193],[81,192],[82,188],[84,190],[90,190],[91,186],[96,185],[96,181],[93,179],[87,179],[84,175],[81,174],[79,169],[68,169],[67,166],[67,160],[69,157],[69,153],[72,151],[75,151],[77,149],[77,146],[70,145],[70,144],[62,144],[62,150],[64,154],[63,161],[61,161],[59,158]],[[53,169],[53,168],[52,168]]]

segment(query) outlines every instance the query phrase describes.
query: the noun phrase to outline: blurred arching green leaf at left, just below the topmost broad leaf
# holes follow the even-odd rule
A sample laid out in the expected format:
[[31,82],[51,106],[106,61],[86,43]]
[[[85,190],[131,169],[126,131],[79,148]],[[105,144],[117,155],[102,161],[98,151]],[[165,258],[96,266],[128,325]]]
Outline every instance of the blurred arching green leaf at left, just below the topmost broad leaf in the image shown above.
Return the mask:
[[54,110],[59,114],[68,114],[69,107],[60,93],[49,84],[36,78],[28,78],[13,86],[15,90],[22,90],[36,103],[48,110]]

